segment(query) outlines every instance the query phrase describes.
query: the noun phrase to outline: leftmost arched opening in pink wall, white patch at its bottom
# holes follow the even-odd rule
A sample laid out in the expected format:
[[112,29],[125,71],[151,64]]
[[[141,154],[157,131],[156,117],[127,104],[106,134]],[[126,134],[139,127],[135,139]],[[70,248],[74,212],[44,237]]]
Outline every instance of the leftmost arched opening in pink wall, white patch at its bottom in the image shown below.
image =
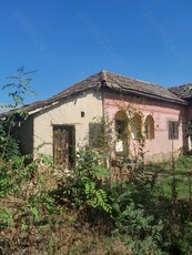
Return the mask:
[[127,154],[128,152],[128,116],[123,111],[117,112],[114,116],[115,128],[115,153]]

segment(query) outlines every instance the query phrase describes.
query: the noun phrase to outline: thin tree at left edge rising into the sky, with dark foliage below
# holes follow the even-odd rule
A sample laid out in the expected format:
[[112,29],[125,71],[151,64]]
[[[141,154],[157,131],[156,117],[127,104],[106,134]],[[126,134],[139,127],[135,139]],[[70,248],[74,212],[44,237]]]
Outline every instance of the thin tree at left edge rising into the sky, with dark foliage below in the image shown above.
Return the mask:
[[2,89],[10,89],[8,96],[11,98],[11,104],[1,104],[4,111],[11,110],[0,116],[0,159],[10,159],[19,154],[18,141],[12,134],[12,129],[20,125],[21,120],[28,118],[28,113],[21,108],[24,104],[24,96],[27,94],[36,94],[29,83],[32,81],[28,78],[36,71],[24,72],[24,67],[20,67],[17,75],[8,76],[7,79],[13,80],[2,86]]

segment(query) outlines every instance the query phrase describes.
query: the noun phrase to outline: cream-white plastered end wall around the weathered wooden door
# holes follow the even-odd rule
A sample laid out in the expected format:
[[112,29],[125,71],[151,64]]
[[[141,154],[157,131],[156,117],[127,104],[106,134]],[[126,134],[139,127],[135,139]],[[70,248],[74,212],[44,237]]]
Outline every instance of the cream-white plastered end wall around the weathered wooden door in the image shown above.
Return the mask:
[[89,123],[95,122],[102,112],[102,95],[97,91],[83,92],[43,110],[34,116],[34,149],[40,146],[39,152],[52,155],[53,125],[74,125],[77,147],[83,145],[88,142]]

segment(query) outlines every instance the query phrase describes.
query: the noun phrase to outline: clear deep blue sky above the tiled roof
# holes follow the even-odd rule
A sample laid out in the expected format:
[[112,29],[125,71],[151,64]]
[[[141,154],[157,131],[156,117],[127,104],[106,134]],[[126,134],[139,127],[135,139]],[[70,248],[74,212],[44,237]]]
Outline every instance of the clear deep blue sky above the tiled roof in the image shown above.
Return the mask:
[[38,70],[38,95],[26,103],[101,70],[164,86],[192,82],[191,48],[191,0],[0,0],[0,84],[21,65]]

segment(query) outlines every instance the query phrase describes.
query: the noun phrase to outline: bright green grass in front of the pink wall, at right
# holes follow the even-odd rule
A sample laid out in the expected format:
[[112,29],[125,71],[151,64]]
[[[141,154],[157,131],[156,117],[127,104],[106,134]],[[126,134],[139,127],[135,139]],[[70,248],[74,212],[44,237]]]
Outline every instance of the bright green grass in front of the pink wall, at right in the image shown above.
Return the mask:
[[161,192],[165,196],[172,194],[173,176],[175,180],[178,198],[190,201],[192,198],[192,155],[180,156],[174,162],[174,174],[172,163],[150,163],[145,167],[146,174],[158,176]]

